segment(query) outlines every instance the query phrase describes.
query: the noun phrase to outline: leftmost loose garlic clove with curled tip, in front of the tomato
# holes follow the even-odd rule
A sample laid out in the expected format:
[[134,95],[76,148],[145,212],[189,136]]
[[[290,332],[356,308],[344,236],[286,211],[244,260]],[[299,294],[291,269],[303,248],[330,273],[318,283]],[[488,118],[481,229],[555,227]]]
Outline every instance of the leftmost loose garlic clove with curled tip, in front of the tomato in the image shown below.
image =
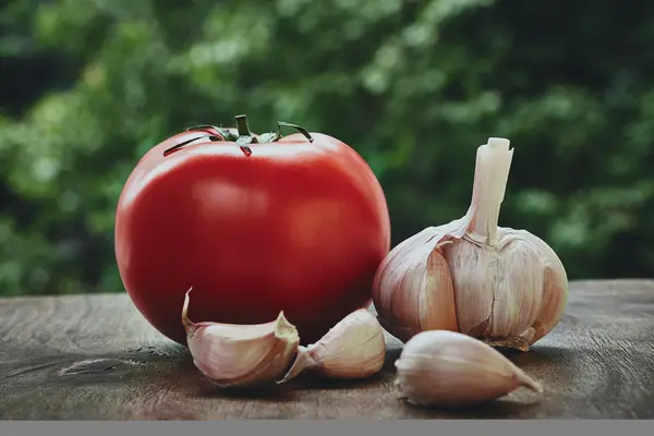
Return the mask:
[[195,366],[215,385],[250,387],[275,384],[295,358],[300,336],[279,313],[276,320],[256,325],[192,323],[189,294],[182,308],[186,342]]

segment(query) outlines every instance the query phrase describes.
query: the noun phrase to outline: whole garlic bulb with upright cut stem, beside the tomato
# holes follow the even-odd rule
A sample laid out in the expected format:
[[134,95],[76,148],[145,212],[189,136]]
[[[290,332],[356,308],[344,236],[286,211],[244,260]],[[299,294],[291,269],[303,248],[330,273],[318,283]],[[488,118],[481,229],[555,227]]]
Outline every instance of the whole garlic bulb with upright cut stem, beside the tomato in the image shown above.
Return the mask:
[[380,264],[373,301],[398,339],[443,329],[526,351],[560,319],[568,278],[556,253],[497,226],[512,156],[508,140],[480,146],[465,216],[424,229]]

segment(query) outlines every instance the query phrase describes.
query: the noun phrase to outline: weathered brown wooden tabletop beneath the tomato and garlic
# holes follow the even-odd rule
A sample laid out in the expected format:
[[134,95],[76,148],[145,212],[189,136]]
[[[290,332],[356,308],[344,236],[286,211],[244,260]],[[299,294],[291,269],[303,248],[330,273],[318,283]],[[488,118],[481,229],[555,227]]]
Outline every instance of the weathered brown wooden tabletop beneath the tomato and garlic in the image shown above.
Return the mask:
[[125,294],[0,300],[0,339],[4,420],[654,417],[654,281],[572,283],[556,329],[509,354],[543,397],[521,390],[464,410],[402,400],[392,384],[401,343],[390,337],[385,368],[367,380],[221,391]]

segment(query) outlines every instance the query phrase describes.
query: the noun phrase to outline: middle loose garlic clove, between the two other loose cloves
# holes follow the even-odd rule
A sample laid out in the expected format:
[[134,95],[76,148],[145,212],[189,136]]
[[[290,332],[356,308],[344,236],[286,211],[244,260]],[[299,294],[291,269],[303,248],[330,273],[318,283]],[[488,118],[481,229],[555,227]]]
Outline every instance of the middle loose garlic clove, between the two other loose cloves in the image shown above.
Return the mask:
[[293,365],[280,383],[305,371],[331,378],[366,378],[382,370],[385,358],[384,329],[372,313],[360,308],[316,343],[300,346]]

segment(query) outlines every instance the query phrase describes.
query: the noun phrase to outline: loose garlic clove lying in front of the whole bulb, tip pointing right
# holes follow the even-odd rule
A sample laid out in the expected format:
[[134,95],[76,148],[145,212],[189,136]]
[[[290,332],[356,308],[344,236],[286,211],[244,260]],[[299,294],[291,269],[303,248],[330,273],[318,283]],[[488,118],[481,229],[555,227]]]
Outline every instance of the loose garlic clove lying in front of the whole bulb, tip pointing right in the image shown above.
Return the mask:
[[487,402],[526,387],[542,386],[493,347],[468,335],[422,331],[395,363],[397,385],[411,403],[463,407]]

